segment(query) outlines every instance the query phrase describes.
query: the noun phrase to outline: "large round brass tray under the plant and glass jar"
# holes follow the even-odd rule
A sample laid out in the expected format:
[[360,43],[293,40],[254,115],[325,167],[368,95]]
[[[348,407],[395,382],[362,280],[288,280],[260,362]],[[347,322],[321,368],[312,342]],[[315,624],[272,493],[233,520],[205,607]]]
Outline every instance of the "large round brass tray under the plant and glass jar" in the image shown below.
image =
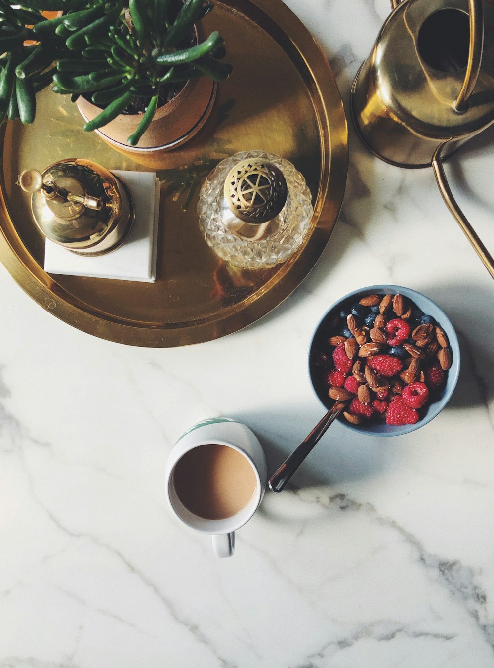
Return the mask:
[[[216,1],[204,23],[224,36],[234,73],[220,84],[204,128],[182,148],[137,164],[97,134],[83,132],[75,105],[49,90],[39,96],[32,126],[3,126],[0,260],[37,303],[103,339],[172,347],[250,325],[306,277],[340,210],[348,170],[346,118],[330,67],[310,33],[280,0]],[[196,214],[198,186],[208,171],[227,156],[254,149],[293,162],[314,204],[311,232],[300,251],[257,272],[220,261],[202,238]],[[23,169],[43,170],[62,158],[157,172],[162,188],[156,283],[43,271],[44,239],[15,181]]]

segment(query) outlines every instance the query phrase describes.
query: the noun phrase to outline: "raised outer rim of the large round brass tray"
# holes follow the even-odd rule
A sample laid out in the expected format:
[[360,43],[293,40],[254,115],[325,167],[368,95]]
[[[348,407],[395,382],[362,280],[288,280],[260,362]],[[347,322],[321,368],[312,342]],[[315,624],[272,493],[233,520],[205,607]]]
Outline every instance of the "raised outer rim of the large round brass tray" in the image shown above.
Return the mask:
[[[144,321],[121,321],[79,301],[74,295],[70,295],[67,300],[64,289],[45,273],[25,248],[7,212],[3,187],[0,187],[1,263],[31,299],[68,325],[85,333],[127,345],[176,347],[214,340],[244,329],[276,308],[302,283],[324,251],[336,224],[348,174],[348,123],[328,61],[308,29],[282,0],[220,1],[231,11],[244,13],[261,28],[269,24],[271,34],[278,32],[282,37],[288,37],[291,53],[286,48],[284,51],[304,78],[314,108],[319,111],[322,176],[314,204],[312,220],[315,225],[304,246],[285,263],[288,269],[280,277],[272,277],[251,299],[237,305],[240,308],[224,309],[216,319],[186,327],[183,323],[168,323],[166,327],[160,327]],[[252,16],[252,8],[257,16]],[[264,27],[266,32],[268,28]],[[2,153],[4,139],[5,124],[0,138]],[[180,148],[177,151],[180,152]],[[9,236],[4,227],[9,227]]]

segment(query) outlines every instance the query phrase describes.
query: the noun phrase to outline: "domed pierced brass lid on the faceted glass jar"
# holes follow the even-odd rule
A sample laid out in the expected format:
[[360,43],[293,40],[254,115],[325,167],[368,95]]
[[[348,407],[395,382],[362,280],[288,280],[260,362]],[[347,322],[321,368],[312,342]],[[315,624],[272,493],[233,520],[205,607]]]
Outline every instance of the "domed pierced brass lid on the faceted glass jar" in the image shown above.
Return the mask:
[[224,196],[230,210],[252,224],[275,218],[284,207],[287,194],[283,172],[272,162],[242,160],[225,180]]

